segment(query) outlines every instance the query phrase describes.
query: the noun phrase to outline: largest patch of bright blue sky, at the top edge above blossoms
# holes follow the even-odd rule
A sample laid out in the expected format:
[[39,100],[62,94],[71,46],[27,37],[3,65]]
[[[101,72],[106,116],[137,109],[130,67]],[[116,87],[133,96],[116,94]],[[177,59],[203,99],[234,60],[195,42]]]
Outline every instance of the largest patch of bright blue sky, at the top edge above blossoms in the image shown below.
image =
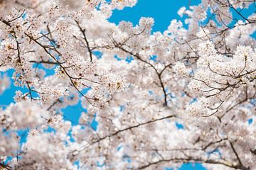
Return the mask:
[[136,6],[124,8],[124,10],[115,10],[110,22],[119,23],[119,21],[130,21],[135,25],[139,23],[139,18],[152,17],[155,20],[153,31],[166,30],[171,20],[178,19],[183,21],[177,14],[182,6],[199,4],[201,0],[138,0]]

